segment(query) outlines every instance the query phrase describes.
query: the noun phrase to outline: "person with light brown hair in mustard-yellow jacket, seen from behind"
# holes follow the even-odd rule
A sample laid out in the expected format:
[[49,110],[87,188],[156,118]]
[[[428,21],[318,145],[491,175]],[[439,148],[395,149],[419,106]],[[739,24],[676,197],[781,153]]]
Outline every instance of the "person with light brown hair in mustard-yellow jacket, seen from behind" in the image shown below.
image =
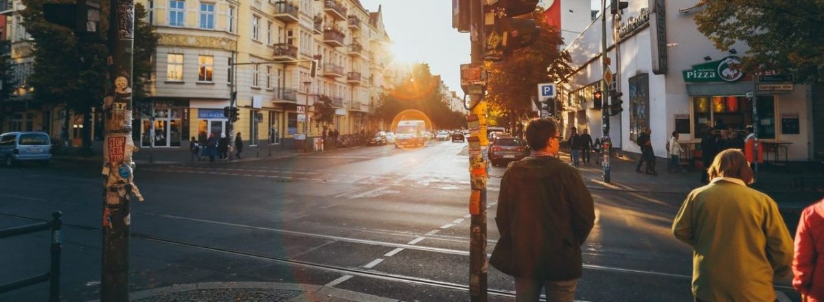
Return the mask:
[[753,172],[741,151],[719,153],[709,177],[672,222],[673,235],[693,249],[695,301],[775,301],[773,280],[789,277],[793,261],[778,206],[747,187]]

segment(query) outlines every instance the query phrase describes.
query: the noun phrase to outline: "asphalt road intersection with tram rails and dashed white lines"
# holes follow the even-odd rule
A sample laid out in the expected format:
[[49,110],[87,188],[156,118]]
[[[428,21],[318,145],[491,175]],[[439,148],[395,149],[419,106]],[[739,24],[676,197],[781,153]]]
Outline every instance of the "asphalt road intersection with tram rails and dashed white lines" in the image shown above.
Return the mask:
[[[202,281],[334,285],[406,301],[466,301],[466,144],[378,146],[213,165],[143,165],[132,204],[131,289]],[[489,253],[499,238],[489,180]],[[0,228],[63,211],[66,301],[98,296],[99,167],[55,162],[0,169]],[[597,222],[584,245],[576,300],[691,301],[691,249],[670,232],[686,196],[592,190]],[[45,233],[0,240],[0,283],[45,272]],[[0,301],[46,300],[47,284]],[[490,301],[513,279],[489,268]],[[780,300],[798,301],[789,287]]]

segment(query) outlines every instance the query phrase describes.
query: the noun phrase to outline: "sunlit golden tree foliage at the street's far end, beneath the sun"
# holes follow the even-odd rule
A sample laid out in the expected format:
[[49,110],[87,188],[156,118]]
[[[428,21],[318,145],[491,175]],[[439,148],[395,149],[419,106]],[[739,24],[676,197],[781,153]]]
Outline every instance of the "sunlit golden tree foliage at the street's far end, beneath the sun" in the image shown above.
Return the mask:
[[432,75],[426,63],[413,66],[410,76],[382,95],[375,116],[392,121],[398,113],[408,109],[424,112],[437,128],[466,127],[466,118],[460,112],[450,110],[447,92],[440,90],[438,77]]

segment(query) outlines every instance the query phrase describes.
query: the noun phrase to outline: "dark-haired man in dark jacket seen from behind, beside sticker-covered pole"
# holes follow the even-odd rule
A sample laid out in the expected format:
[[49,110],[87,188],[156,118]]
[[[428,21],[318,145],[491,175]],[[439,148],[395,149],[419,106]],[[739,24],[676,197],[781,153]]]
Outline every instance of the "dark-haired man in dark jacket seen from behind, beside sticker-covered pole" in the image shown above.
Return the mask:
[[495,222],[501,238],[489,263],[515,277],[516,300],[572,302],[581,277],[581,245],[595,220],[592,195],[578,169],[558,159],[555,121],[526,130],[531,154],[503,173]]

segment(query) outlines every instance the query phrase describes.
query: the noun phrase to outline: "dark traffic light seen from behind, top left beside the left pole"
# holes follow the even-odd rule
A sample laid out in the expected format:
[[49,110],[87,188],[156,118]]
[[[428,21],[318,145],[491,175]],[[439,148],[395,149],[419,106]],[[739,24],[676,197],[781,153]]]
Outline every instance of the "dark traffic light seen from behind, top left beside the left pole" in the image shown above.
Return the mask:
[[101,21],[98,0],[77,0],[77,3],[44,3],[46,21],[72,29],[79,39],[95,39]]

